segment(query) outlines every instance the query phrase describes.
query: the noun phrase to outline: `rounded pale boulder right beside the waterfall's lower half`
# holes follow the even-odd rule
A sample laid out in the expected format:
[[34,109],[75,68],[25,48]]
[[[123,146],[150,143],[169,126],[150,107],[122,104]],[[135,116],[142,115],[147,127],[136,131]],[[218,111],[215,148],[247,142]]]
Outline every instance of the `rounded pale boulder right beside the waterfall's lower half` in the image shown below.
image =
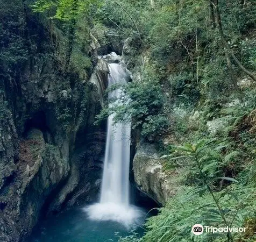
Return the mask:
[[153,144],[144,143],[137,148],[133,173],[137,187],[161,205],[175,195],[175,186],[171,177],[163,172],[161,159]]

